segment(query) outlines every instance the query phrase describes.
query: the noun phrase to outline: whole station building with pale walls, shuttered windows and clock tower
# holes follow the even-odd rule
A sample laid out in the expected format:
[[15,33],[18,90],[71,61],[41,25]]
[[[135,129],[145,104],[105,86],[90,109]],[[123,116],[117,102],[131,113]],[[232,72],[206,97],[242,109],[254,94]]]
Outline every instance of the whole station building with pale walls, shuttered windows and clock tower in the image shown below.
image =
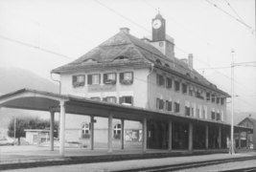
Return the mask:
[[[151,39],[139,39],[128,28],[121,28],[87,54],[54,69],[51,73],[60,75],[61,94],[175,117],[172,123],[157,115],[147,119],[147,148],[226,148],[230,128],[223,124],[229,95],[198,74],[193,68],[193,54],[186,59],[175,57],[175,41],[166,33],[161,14],[152,19],[151,31]],[[66,130],[66,139],[89,139],[91,122],[88,118],[73,131]],[[121,131],[124,124],[122,118],[114,119],[113,138],[126,138]],[[107,125],[106,120],[97,119],[95,141],[107,141]],[[124,127],[141,140],[142,122],[127,121]]]

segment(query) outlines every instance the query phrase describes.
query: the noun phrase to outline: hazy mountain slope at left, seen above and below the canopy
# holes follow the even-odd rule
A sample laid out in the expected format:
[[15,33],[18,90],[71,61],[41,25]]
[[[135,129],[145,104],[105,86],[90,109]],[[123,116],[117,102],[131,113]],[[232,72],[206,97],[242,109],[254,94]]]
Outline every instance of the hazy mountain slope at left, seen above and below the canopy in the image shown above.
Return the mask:
[[[19,69],[0,67],[0,95],[29,88],[46,92],[58,93],[58,84],[34,73]],[[49,112],[0,108],[0,137],[6,136],[8,125],[13,117],[49,118]]]

